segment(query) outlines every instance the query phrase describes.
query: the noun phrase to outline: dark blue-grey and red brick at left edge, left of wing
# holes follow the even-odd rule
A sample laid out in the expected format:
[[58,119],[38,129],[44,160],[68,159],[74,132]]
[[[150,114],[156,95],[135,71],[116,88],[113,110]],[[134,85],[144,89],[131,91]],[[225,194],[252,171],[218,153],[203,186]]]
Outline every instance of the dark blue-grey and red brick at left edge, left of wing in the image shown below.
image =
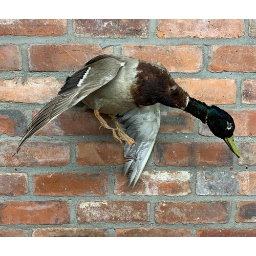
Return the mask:
[[23,111],[0,110],[0,135],[22,136],[27,125],[27,118]]

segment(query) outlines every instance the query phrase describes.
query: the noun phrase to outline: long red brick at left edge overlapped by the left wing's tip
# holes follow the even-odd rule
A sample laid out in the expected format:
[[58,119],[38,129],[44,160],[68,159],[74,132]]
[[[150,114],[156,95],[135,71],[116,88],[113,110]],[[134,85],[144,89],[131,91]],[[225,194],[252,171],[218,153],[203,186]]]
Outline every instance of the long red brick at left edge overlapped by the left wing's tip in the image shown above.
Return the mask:
[[70,163],[68,142],[29,141],[15,153],[18,141],[0,142],[0,166],[62,166]]

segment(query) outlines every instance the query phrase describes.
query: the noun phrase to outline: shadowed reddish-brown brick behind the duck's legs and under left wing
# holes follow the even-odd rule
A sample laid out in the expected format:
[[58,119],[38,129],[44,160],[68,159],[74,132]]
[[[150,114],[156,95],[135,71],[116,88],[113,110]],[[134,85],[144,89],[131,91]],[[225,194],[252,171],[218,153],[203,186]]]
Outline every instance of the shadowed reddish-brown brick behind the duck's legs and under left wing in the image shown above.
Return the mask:
[[[38,111],[39,110],[33,111],[33,116],[35,116]],[[111,126],[111,118],[109,115],[101,114],[100,116]],[[103,128],[99,129],[99,127],[100,123],[93,111],[69,109],[53,119],[38,131],[36,135],[112,135],[110,130]]]

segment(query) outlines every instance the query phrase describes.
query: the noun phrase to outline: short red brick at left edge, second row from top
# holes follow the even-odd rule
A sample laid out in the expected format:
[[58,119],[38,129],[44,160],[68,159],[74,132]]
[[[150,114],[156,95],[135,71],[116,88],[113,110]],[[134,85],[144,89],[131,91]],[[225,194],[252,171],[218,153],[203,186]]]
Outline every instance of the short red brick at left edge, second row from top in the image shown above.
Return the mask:
[[0,45],[0,71],[22,70],[22,54],[18,46]]

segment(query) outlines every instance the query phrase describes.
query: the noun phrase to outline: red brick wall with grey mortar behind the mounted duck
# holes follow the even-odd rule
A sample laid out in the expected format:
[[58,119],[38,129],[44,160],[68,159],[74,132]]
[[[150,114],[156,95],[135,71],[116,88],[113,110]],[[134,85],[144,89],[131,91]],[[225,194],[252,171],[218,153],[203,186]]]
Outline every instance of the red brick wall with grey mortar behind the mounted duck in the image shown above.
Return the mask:
[[[256,236],[255,24],[0,19],[0,237]],[[123,145],[82,104],[12,157],[66,76],[102,53],[164,65],[191,96],[221,105],[241,158],[198,119],[161,106],[152,155],[128,188]]]

